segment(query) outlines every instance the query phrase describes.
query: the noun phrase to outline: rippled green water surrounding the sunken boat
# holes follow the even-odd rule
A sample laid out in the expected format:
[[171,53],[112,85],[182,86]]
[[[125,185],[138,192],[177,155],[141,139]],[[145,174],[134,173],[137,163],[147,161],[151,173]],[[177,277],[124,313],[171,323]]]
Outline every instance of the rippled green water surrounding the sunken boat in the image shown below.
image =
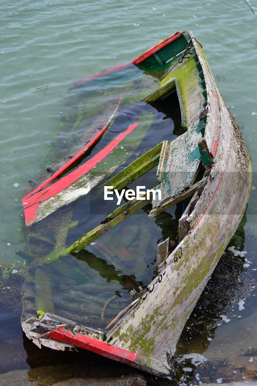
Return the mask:
[[[257,13],[254,8],[257,5],[252,3],[252,7]],[[24,249],[20,199],[27,181],[36,181],[45,170],[43,160],[49,139],[62,117],[64,98],[73,81],[127,62],[177,30],[192,30],[203,45],[216,84],[241,128],[252,160],[253,186],[257,187],[257,18],[245,1],[2,1],[0,28],[1,261],[16,261],[15,250]],[[17,184],[19,186],[14,186]],[[240,246],[247,251],[244,258],[252,264],[242,268],[244,258],[234,257],[231,252],[226,255],[231,261],[231,270],[228,271],[224,263],[221,272],[227,271],[228,277],[233,278],[230,288],[225,285],[226,279],[221,282],[223,286],[217,286],[219,280],[216,279],[216,287],[212,289],[212,293],[221,293],[223,303],[215,308],[217,299],[203,295],[198,306],[200,314],[192,314],[197,315],[198,322],[189,321],[188,330],[193,331],[192,335],[184,335],[179,346],[181,353],[203,354],[209,367],[194,368],[189,378],[181,379],[182,383],[198,383],[199,377],[195,374],[200,374],[203,381],[243,380],[242,376],[247,379],[247,374],[238,375],[236,364],[253,366],[254,362],[248,359],[253,357],[255,361],[256,355],[247,357],[242,353],[251,353],[257,346],[256,288],[251,288],[257,272],[252,270],[257,268],[256,191],[250,196]],[[232,261],[236,261],[236,266]],[[223,266],[222,261],[220,266]],[[238,311],[237,303],[244,298],[245,308]],[[210,301],[213,307],[206,312],[203,305]],[[210,322],[205,320],[203,332],[198,324],[206,313],[210,315]],[[27,362],[31,367],[38,366],[31,364],[35,356],[32,349],[26,348],[27,359],[18,315],[3,313],[0,319],[1,351],[9,349],[11,353],[9,361],[2,358],[2,372],[29,368]],[[221,320],[220,315],[225,315],[230,322]],[[207,325],[212,328],[211,335],[206,332]],[[223,376],[222,371],[215,372],[216,378],[211,378],[212,367],[220,369],[225,361],[235,366],[236,373],[227,371]],[[194,367],[190,363],[185,366]],[[110,367],[110,372],[113,371]],[[186,377],[180,373],[179,376]]]

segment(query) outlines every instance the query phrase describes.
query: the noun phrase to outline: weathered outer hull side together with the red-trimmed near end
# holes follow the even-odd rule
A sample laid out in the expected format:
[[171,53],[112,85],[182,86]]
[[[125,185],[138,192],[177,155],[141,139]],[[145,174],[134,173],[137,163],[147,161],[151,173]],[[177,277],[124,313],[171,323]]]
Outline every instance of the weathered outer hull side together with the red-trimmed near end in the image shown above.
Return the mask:
[[[170,374],[184,325],[237,229],[251,188],[250,159],[240,130],[215,85],[200,44],[190,36],[205,83],[206,125],[199,148],[210,173],[194,190],[200,196],[193,210],[186,209],[181,217],[179,244],[159,264],[156,278],[107,334],[46,314],[40,320],[22,320],[30,339],[36,338],[40,344],[48,342],[55,348],[58,342],[64,342],[157,376]],[[159,47],[147,51],[149,63]],[[172,200],[174,197],[154,207],[150,216],[159,213],[160,207],[169,207]],[[53,339],[51,343],[49,338]]]

